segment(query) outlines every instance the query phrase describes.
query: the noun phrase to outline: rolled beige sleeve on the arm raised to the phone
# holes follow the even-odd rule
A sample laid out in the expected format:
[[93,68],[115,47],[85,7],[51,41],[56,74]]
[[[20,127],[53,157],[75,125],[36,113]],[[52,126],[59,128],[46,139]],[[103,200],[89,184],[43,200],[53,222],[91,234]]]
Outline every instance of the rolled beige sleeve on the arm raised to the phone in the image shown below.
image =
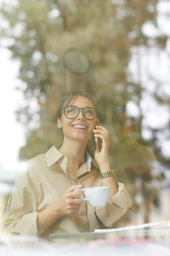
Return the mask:
[[118,183],[118,192],[108,200],[106,206],[96,207],[96,215],[106,226],[112,227],[132,206],[132,200],[123,183]]

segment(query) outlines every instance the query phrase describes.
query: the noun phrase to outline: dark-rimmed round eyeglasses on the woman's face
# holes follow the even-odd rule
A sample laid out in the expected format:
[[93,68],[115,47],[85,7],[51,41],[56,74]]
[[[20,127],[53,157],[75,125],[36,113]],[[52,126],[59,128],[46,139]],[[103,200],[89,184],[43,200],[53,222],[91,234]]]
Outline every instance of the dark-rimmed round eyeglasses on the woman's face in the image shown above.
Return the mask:
[[64,115],[68,119],[73,119],[79,115],[79,111],[82,110],[83,115],[86,119],[88,120],[93,120],[97,117],[98,115],[98,110],[96,108],[77,108],[74,106],[68,106],[68,107],[63,107],[64,109]]

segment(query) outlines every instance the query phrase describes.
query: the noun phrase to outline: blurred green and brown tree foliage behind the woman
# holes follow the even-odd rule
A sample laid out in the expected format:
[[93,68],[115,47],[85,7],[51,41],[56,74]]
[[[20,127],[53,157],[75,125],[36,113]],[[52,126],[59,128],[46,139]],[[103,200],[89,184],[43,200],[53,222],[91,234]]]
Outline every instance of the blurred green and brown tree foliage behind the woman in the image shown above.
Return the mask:
[[[101,123],[110,132],[111,162],[119,180],[127,184],[136,209],[137,191],[147,201],[146,208],[151,201],[156,203],[156,190],[149,186],[154,179],[152,170],[156,158],[164,166],[169,166],[168,159],[161,155],[157,131],[152,129],[152,139],[146,141],[141,135],[142,113],[130,123],[126,105],[133,101],[140,108],[146,90],[132,80],[127,67],[132,47],[149,47],[149,38],[141,28],[146,21],[157,25],[158,0],[14,2],[11,6],[2,4],[9,28],[2,28],[1,36],[13,38],[9,49],[12,58],[21,63],[18,77],[23,83],[17,89],[23,92],[25,103],[16,114],[26,127],[26,145],[20,149],[20,159],[44,153],[62,142],[56,126],[57,107],[68,90],[81,88],[99,102]],[[158,36],[157,47],[166,47],[167,39]],[[86,74],[74,74],[64,66],[64,53],[71,47],[83,49],[87,55],[90,70]],[[169,99],[155,97],[159,104],[170,104]]]

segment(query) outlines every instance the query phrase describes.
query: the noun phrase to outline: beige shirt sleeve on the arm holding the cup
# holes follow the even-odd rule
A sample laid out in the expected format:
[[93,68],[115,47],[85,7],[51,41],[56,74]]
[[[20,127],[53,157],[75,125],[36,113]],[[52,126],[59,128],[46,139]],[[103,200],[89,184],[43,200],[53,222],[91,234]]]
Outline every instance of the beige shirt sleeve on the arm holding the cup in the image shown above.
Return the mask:
[[38,235],[37,198],[29,173],[18,175],[10,197],[11,202],[2,224],[4,234]]

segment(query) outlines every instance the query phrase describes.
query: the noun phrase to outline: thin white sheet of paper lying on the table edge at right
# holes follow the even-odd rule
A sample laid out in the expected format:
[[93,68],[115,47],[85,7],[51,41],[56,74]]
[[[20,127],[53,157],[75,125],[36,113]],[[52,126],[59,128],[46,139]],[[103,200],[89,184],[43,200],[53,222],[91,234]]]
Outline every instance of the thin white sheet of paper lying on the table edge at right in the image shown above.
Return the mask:
[[[164,223],[167,223],[167,221],[151,222],[151,223],[139,224],[139,225],[128,226],[128,227],[119,227],[117,229],[95,229],[95,232],[106,233],[106,232],[117,232],[117,231],[124,231],[124,230],[130,230],[130,229],[144,229],[147,227],[153,227],[155,225],[161,225]],[[168,224],[170,224],[170,222],[168,222]]]

